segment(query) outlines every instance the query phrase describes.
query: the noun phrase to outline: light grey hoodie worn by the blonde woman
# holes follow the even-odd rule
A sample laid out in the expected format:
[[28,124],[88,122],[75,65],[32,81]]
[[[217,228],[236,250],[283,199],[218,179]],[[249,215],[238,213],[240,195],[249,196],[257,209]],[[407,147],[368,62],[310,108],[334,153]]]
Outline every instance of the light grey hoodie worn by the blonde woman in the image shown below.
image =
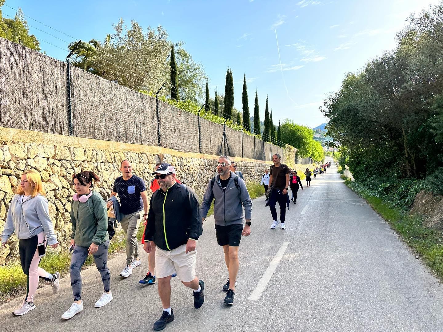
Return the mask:
[[12,198],[4,230],[1,234],[1,242],[8,241],[14,231],[21,240],[30,239],[44,231],[48,245],[57,243],[46,198],[38,194],[35,197],[25,199],[23,210],[22,199],[23,195],[18,194]]

